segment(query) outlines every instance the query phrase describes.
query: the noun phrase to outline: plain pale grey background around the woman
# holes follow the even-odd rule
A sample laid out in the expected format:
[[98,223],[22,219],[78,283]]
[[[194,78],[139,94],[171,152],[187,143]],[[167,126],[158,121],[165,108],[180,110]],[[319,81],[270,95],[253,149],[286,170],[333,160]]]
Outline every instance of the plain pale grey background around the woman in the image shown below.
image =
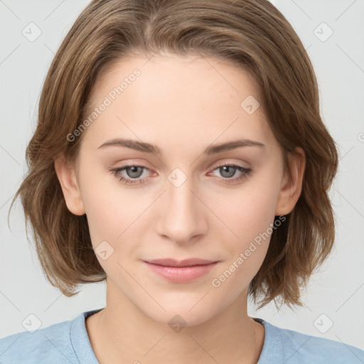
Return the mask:
[[[105,283],[84,285],[80,294],[68,298],[46,282],[26,240],[19,200],[10,216],[11,231],[7,225],[11,198],[26,173],[25,150],[36,127],[45,73],[88,2],[0,0],[0,337],[24,331],[22,322],[29,314],[36,315],[43,328],[106,304]],[[271,303],[256,311],[250,302],[248,313],[364,349],[364,0],[272,2],[310,55],[321,113],[340,148],[338,177],[330,192],[337,238],[333,253],[302,291],[303,308],[277,312]],[[41,29],[33,42],[22,33],[31,22]],[[333,31],[325,41],[329,28],[323,22]]]

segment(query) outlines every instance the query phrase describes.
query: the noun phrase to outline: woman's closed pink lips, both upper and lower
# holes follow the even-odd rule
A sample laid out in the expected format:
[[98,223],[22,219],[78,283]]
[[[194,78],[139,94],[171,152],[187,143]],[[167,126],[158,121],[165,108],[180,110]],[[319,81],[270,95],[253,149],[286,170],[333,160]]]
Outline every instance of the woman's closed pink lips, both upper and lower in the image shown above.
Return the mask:
[[218,262],[212,260],[191,259],[153,259],[143,261],[153,272],[172,282],[191,282],[210,272]]

